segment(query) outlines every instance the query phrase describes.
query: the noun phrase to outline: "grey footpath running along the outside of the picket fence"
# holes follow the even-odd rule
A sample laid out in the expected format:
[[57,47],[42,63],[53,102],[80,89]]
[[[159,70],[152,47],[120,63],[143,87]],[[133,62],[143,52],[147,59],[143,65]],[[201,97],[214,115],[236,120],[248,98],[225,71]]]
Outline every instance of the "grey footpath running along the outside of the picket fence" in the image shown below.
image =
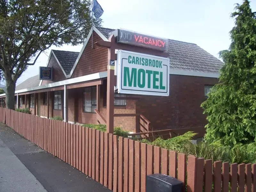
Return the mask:
[[0,123],[0,192],[110,192]]

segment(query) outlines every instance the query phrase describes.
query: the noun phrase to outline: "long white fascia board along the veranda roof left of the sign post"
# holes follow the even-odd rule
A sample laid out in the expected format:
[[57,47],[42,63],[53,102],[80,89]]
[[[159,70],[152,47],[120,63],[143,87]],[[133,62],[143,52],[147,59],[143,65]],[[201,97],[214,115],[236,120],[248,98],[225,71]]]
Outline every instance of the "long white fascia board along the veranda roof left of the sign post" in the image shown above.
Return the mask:
[[[85,81],[105,78],[107,76],[108,76],[107,71],[100,72],[100,73],[93,73],[93,74],[90,74],[90,75],[80,76],[80,77],[76,77],[76,78],[72,78],[72,79],[66,79],[66,80],[63,80],[63,81],[58,81],[58,82],[54,82],[54,83],[50,83],[50,84],[45,84],[45,85],[37,86],[37,87],[21,89],[21,90],[15,91],[15,93],[23,93],[23,92],[29,92],[29,91],[36,91],[36,90],[40,90],[40,89],[46,89],[46,88],[58,87],[58,86],[62,86],[62,85],[80,83],[80,82],[85,82]],[[1,96],[5,96],[5,93],[4,94],[0,94],[0,97]]]

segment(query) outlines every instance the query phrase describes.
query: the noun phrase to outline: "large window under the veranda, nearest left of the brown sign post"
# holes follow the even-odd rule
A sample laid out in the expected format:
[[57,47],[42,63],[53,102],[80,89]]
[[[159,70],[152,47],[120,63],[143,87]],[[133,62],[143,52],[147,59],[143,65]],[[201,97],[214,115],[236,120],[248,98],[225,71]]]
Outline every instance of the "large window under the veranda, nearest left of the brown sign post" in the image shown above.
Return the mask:
[[96,87],[85,88],[83,112],[94,113],[94,109],[96,109],[96,106],[97,106],[96,94],[97,94]]

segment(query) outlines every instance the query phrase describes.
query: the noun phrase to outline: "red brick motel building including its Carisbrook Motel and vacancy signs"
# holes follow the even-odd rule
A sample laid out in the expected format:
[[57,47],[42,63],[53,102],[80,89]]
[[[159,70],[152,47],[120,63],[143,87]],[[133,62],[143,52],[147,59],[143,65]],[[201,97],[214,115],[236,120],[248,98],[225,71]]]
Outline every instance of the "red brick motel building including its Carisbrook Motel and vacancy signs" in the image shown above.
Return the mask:
[[[108,48],[96,42],[109,41],[112,34],[116,58],[108,60]],[[106,124],[110,68],[116,78],[115,127],[130,132],[204,130],[200,105],[218,83],[222,65],[194,43],[92,27],[80,52],[51,50],[47,67],[16,86],[15,106],[72,124]],[[1,107],[4,99],[1,94]]]

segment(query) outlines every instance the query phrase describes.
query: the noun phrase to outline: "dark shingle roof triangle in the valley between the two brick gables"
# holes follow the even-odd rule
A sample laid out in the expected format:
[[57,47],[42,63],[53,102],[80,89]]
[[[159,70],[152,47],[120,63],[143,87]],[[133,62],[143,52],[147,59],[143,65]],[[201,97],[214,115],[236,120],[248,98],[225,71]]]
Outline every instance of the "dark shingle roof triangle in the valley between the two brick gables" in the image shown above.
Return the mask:
[[79,52],[52,50],[67,75],[70,74]]

